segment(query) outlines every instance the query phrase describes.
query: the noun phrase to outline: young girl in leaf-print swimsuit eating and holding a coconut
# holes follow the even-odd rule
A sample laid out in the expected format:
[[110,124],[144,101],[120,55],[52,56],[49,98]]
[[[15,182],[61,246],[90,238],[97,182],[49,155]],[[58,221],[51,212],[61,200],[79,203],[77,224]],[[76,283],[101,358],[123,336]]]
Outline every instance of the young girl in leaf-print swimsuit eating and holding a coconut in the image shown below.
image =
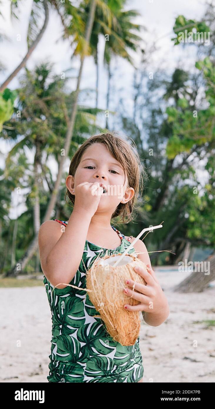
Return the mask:
[[[105,330],[99,312],[83,290],[86,271],[94,260],[125,251],[134,240],[110,224],[121,216],[130,220],[139,192],[141,165],[136,151],[116,133],[87,139],[72,157],[66,179],[67,195],[73,203],[69,220],[47,220],[38,235],[44,284],[52,312],[49,382],[143,382],[139,337],[132,346],[115,342]],[[150,272],[135,269],[147,285],[125,282],[128,311],[142,311],[147,324],[162,324],[169,315],[168,301],[152,270],[141,240],[130,253]],[[136,290],[136,291],[135,291]],[[138,292],[137,292],[138,291]],[[129,298],[139,301],[129,305]],[[152,307],[153,306],[153,307]]]

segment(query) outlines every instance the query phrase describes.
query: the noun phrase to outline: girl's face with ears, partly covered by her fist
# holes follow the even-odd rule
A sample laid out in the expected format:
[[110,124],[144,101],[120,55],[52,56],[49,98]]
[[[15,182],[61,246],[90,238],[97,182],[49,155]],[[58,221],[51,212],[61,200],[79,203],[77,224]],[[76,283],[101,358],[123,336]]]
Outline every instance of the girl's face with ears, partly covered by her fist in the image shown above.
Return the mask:
[[97,211],[110,210],[113,213],[120,202],[126,203],[134,196],[134,189],[127,186],[127,175],[125,176],[123,167],[104,144],[89,146],[81,157],[74,177],[69,175],[67,178],[69,177],[71,184],[68,187],[71,192],[82,182],[99,182],[105,189]]

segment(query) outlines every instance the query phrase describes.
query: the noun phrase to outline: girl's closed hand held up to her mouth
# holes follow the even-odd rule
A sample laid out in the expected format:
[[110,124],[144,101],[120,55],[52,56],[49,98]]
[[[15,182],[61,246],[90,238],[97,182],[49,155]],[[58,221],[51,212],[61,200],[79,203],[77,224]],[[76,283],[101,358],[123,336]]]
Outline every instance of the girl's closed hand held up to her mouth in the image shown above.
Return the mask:
[[102,194],[103,188],[99,182],[82,182],[78,184],[75,189],[74,211],[80,211],[80,209],[82,209],[93,216],[97,210]]

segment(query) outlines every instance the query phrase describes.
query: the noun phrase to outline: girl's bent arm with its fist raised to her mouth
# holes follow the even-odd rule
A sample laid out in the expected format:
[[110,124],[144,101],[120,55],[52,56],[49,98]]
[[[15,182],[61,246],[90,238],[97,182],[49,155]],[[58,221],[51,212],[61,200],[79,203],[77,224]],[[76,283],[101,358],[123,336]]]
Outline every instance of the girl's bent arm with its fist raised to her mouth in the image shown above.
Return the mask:
[[[98,194],[92,194],[95,191]],[[69,284],[75,276],[83,256],[90,221],[101,199],[103,189],[98,182],[83,182],[76,187],[74,210],[67,227],[54,220],[40,226],[38,245],[43,273],[52,285]],[[57,288],[65,288],[59,285]]]

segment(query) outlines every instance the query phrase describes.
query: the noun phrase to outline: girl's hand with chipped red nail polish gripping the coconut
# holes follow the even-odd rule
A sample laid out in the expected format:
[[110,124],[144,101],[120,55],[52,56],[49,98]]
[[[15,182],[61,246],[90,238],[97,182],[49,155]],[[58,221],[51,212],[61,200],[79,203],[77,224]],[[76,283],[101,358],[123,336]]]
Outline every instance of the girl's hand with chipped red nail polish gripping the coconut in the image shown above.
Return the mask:
[[[146,311],[152,314],[159,314],[168,306],[168,300],[163,293],[152,267],[150,267],[149,264],[147,264],[147,267],[149,268],[150,272],[143,270],[141,267],[134,267],[134,271],[143,277],[143,279],[146,281],[146,285],[139,283],[135,283],[134,285],[134,281],[130,279],[125,282],[125,285],[128,286],[125,289],[128,290],[128,292],[126,292],[128,297],[140,301],[140,303],[136,306],[131,306],[129,304],[125,304],[125,306],[127,306],[128,311]],[[133,285],[134,290],[139,291],[141,294],[133,290]],[[123,291],[125,292],[125,290]]]

